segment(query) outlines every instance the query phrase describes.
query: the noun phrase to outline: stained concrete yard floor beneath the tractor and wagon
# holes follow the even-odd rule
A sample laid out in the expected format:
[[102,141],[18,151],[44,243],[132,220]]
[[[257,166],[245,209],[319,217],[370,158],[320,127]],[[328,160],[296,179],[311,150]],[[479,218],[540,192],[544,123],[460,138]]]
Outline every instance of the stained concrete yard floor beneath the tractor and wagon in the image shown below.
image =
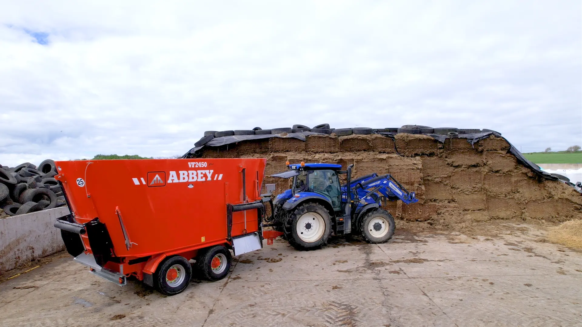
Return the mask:
[[[244,254],[228,278],[166,297],[113,285],[70,258],[0,284],[2,326],[580,326],[582,253],[515,225],[497,237],[397,233],[284,240]],[[268,260],[265,260],[267,259]]]

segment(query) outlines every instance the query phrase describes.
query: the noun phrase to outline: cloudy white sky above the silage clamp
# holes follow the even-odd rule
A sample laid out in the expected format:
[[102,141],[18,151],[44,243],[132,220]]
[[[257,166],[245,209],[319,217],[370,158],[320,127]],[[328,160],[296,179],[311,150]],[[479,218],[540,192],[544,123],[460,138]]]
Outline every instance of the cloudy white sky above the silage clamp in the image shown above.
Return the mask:
[[208,3],[3,1],[0,164],[320,123],[582,143],[580,1]]

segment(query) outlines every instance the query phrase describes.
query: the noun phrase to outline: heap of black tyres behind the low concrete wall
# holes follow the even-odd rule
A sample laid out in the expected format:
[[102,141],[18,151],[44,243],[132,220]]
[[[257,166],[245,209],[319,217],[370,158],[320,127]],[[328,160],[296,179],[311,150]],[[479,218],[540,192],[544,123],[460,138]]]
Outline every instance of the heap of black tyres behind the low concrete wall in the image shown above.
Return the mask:
[[[66,205],[63,190],[54,176],[55,162],[47,159],[35,166],[25,162],[0,168],[0,208],[3,216],[28,214]],[[0,214],[2,214],[0,212]]]

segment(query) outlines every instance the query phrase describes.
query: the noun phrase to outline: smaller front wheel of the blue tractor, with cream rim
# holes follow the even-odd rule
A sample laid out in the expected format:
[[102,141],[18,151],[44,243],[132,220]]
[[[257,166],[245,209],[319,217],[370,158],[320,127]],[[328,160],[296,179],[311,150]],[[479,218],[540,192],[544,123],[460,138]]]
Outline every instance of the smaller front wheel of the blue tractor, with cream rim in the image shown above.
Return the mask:
[[384,209],[372,209],[360,222],[360,231],[368,243],[384,243],[394,234],[394,218]]

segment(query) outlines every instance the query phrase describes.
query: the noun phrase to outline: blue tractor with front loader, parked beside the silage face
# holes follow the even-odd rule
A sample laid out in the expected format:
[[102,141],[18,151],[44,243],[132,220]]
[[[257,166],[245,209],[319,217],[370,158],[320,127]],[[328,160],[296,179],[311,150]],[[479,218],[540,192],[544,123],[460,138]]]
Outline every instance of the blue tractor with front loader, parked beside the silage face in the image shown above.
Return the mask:
[[[289,170],[271,175],[293,179],[292,188],[271,202],[271,216],[263,226],[283,232],[299,250],[321,248],[332,233],[361,234],[369,243],[384,243],[394,234],[394,219],[382,201],[417,202],[392,175],[372,173],[352,180],[353,165],[341,170],[333,163],[289,164]],[[340,184],[340,175],[346,183]]]

